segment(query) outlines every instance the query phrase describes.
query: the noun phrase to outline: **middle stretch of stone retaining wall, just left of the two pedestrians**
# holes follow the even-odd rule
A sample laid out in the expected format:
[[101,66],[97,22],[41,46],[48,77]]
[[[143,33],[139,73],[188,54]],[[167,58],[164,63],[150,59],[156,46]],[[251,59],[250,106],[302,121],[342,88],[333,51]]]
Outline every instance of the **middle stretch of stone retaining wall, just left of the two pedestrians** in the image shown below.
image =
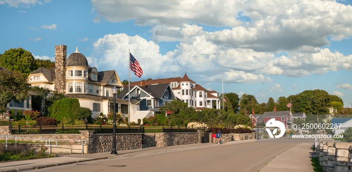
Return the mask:
[[145,146],[172,146],[201,143],[199,135],[199,132],[144,133],[143,143]]

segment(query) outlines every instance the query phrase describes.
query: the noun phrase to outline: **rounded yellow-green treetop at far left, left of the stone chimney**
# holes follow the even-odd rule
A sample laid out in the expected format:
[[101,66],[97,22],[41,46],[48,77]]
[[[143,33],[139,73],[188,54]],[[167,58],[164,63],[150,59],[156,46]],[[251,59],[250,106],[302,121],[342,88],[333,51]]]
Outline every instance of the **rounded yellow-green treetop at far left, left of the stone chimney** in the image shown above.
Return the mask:
[[19,71],[25,77],[36,70],[32,53],[22,48],[5,51],[5,53],[0,56],[0,62],[0,66],[10,71]]

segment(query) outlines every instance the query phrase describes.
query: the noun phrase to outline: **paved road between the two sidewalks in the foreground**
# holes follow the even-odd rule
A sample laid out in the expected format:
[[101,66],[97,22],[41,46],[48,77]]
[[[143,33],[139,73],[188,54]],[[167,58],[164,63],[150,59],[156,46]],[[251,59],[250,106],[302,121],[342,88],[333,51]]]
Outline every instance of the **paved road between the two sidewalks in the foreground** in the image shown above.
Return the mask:
[[116,157],[35,171],[257,171],[277,154],[297,144],[223,143],[206,148]]

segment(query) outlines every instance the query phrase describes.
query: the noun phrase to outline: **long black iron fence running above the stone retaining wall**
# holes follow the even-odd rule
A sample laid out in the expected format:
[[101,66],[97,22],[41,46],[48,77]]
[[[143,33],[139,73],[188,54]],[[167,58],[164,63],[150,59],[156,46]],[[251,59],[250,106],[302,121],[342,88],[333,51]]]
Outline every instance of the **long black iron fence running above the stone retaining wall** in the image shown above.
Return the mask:
[[[113,125],[51,125],[51,126],[10,126],[12,134],[79,134],[80,130],[94,130],[94,133],[113,133]],[[164,126],[117,126],[116,133],[158,133],[197,132],[204,128],[164,127]]]

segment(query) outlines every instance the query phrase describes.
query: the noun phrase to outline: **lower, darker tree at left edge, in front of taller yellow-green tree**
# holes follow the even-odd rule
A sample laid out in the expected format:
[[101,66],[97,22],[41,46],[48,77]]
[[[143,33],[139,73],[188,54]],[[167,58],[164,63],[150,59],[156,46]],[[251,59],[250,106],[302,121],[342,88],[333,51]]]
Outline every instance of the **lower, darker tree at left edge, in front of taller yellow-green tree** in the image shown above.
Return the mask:
[[28,97],[27,78],[20,72],[0,70],[0,112],[6,110],[11,100],[23,101]]

